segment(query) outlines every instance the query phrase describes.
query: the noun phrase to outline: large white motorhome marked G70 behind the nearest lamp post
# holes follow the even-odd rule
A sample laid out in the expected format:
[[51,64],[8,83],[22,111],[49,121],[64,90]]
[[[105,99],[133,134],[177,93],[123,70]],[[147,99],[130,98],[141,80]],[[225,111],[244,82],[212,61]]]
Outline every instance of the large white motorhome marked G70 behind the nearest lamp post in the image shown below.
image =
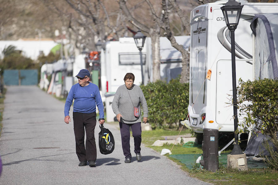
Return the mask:
[[[203,132],[204,128],[234,132],[232,96],[229,96],[232,95],[231,38],[220,9],[226,2],[204,4],[191,11],[188,126],[196,132]],[[236,80],[246,81],[254,79],[255,48],[250,23],[255,14],[278,13],[278,3],[239,2],[244,6],[235,30]]]

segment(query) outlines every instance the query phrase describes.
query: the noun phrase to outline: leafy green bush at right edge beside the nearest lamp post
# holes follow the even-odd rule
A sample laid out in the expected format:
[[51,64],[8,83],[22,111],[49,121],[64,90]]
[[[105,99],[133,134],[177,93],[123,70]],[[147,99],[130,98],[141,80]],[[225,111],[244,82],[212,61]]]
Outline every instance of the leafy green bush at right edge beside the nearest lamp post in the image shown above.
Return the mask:
[[243,129],[238,132],[247,132],[248,128],[256,128],[262,134],[267,134],[273,142],[276,151],[271,147],[266,149],[270,153],[268,161],[272,167],[278,169],[278,80],[259,79],[243,82],[239,80],[238,105],[243,122]]

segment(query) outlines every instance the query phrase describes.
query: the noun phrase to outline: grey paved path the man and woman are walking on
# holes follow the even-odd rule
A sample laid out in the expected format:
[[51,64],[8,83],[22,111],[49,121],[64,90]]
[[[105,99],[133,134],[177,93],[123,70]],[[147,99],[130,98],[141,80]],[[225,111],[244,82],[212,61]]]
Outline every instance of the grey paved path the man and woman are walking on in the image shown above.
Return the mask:
[[[104,126],[116,140],[115,150],[103,155],[97,147],[97,167],[78,167],[73,121],[64,123],[63,102],[36,86],[12,86],[7,88],[4,104],[1,185],[208,184],[189,177],[174,162],[146,147],[142,147],[141,162],[132,152],[132,162],[124,163],[120,131],[107,123]],[[96,127],[96,138],[99,131]]]

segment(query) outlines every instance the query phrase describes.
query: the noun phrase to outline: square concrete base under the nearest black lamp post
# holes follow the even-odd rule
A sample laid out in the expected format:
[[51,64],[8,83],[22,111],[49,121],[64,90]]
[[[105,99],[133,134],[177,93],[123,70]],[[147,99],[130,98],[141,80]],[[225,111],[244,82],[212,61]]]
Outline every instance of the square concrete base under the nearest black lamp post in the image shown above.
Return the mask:
[[238,170],[241,171],[248,170],[246,154],[227,155],[227,166],[232,168],[237,168]]

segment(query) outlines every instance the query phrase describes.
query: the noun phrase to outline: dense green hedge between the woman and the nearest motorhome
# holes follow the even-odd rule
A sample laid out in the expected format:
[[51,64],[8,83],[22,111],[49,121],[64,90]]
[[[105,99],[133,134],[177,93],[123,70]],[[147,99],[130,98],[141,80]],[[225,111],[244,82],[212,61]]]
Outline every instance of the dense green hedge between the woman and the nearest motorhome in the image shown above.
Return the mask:
[[141,89],[148,104],[148,120],[152,129],[179,128],[179,121],[187,117],[189,84],[181,84],[177,78],[168,84],[158,80],[141,85]]

